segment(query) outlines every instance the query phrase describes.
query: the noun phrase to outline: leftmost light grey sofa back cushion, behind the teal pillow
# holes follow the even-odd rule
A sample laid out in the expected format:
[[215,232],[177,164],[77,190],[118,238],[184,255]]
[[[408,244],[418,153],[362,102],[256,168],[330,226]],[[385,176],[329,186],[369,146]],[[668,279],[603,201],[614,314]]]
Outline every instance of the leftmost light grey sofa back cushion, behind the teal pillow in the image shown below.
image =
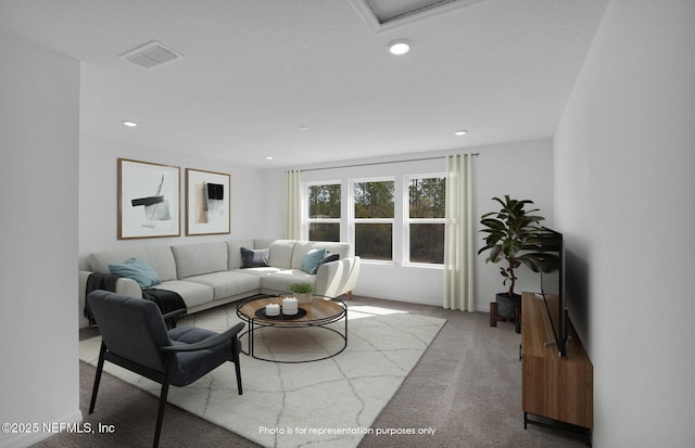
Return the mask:
[[163,282],[176,280],[176,263],[170,246],[132,247],[123,251],[94,252],[87,260],[94,272],[110,273],[109,265],[137,258],[150,265]]

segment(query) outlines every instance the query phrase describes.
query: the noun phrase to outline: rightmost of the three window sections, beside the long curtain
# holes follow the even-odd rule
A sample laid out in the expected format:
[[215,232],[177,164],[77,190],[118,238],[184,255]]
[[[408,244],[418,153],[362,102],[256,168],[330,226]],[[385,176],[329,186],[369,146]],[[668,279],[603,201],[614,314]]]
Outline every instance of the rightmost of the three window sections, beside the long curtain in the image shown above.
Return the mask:
[[443,264],[446,178],[410,177],[407,190],[408,260]]

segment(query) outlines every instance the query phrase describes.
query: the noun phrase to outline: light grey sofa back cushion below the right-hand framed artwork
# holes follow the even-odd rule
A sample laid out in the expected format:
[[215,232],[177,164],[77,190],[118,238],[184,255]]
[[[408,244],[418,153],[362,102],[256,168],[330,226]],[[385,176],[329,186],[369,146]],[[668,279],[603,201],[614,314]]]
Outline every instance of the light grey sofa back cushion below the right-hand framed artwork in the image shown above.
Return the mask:
[[227,270],[227,243],[181,244],[172,246],[176,276],[180,279]]

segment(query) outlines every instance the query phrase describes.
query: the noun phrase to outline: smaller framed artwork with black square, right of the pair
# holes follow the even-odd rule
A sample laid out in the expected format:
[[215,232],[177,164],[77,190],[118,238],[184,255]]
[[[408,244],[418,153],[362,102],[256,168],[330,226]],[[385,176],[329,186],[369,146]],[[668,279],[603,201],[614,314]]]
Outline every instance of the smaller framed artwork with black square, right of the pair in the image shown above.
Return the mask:
[[186,168],[186,234],[230,233],[229,175]]

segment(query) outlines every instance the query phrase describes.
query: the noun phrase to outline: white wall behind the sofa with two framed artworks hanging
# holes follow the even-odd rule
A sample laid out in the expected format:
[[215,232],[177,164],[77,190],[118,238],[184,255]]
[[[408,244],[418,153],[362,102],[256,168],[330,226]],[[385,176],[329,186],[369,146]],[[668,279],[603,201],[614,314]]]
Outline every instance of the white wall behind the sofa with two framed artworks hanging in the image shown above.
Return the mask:
[[[118,240],[118,158],[180,167],[181,236]],[[186,236],[186,168],[230,175],[230,234]],[[230,239],[279,238],[276,234],[266,234],[263,230],[266,213],[263,202],[265,189],[261,171],[253,168],[114,143],[83,135],[79,150],[79,269],[89,269],[87,257],[97,251]],[[80,327],[87,325],[81,310],[79,322]]]

